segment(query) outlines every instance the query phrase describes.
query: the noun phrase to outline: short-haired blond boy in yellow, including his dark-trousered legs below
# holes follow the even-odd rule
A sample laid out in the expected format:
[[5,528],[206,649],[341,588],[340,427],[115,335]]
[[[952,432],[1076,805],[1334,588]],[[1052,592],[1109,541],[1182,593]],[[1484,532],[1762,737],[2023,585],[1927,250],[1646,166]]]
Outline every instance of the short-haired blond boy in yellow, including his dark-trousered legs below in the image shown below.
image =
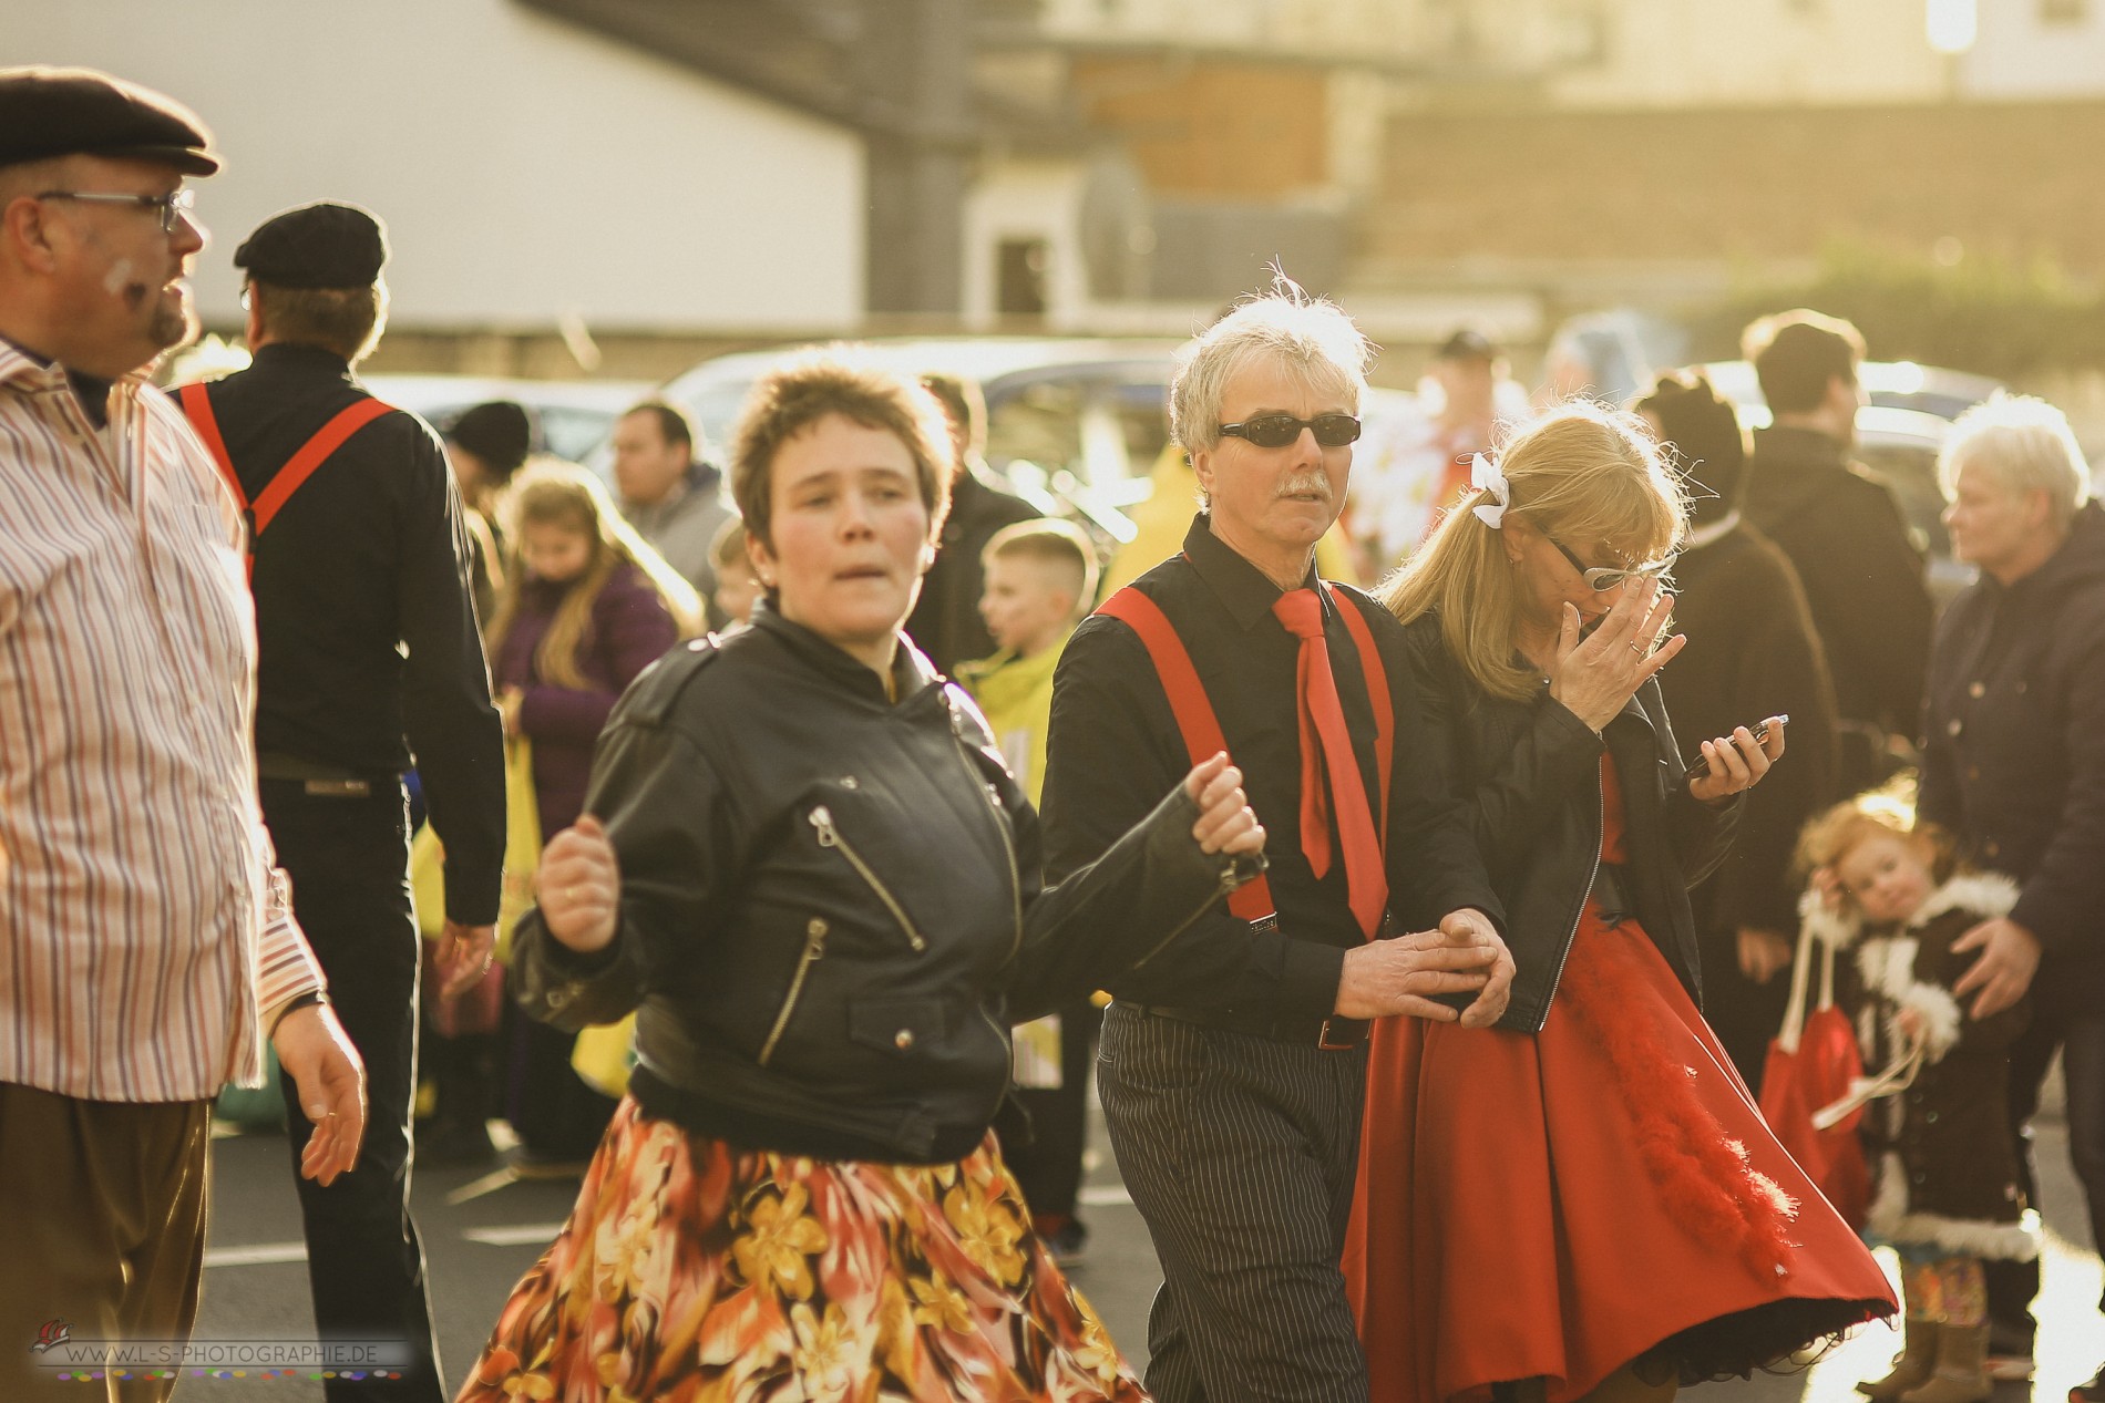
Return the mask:
[[[981,555],[985,578],[979,616],[996,652],[960,663],[958,682],[987,715],[1002,759],[1038,804],[1044,791],[1046,728],[1052,721],[1052,669],[1076,623],[1097,602],[1097,553],[1067,522],[1004,526]],[[1038,1235],[1071,1264],[1088,1239],[1076,1218],[1082,1148],[1088,1127],[1088,1062],[1101,1014],[1088,1001],[1017,1029],[1017,1100],[1031,1117],[1031,1140],[1004,1134],[1008,1159]],[[1006,1127],[1004,1127],[1006,1130]]]

